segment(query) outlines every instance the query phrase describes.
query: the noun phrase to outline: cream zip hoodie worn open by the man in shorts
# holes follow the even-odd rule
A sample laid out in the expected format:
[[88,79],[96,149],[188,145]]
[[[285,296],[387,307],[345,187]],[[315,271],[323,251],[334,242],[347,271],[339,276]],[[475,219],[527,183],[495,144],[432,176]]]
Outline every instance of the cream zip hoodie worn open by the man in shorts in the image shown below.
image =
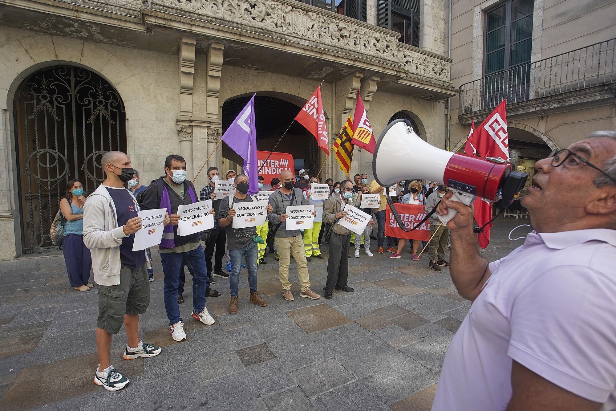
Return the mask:
[[[134,198],[132,193],[131,197]],[[83,242],[90,249],[97,284],[120,284],[120,245],[124,237],[128,235],[124,234],[123,226],[118,227],[111,195],[101,184],[87,197],[83,208]],[[145,259],[148,259],[147,254]]]

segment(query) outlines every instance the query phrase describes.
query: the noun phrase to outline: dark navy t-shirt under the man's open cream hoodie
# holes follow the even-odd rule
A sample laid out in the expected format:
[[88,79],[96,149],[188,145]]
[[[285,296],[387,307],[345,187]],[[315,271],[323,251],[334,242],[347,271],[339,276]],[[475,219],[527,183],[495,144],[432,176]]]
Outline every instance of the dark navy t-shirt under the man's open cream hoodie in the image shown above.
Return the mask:
[[[124,226],[129,219],[137,217],[139,206],[127,189],[116,189],[107,186],[105,186],[105,189],[107,189],[109,195],[111,195],[111,199],[115,205],[118,227]],[[120,245],[121,266],[136,269],[145,264],[145,251],[132,251],[132,244],[134,242],[135,234],[122,238],[122,243]]]

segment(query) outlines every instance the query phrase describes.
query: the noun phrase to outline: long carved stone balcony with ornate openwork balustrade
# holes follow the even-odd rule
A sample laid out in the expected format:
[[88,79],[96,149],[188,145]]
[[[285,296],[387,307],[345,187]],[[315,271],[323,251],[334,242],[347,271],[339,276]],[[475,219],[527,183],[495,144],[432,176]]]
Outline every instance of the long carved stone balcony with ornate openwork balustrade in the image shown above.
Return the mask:
[[294,0],[0,0],[0,7],[0,23],[53,35],[171,53],[188,36],[197,52],[223,44],[229,65],[326,82],[360,71],[399,94],[457,94],[447,57]]

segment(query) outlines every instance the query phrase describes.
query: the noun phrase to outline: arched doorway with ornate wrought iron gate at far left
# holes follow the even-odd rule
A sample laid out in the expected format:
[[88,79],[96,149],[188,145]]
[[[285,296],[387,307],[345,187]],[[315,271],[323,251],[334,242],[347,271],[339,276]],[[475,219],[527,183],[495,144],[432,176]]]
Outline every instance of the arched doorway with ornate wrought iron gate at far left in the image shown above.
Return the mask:
[[14,100],[23,251],[51,246],[49,227],[66,184],[80,179],[91,193],[105,174],[100,156],[126,152],[126,116],[107,80],[81,67],[36,71]]

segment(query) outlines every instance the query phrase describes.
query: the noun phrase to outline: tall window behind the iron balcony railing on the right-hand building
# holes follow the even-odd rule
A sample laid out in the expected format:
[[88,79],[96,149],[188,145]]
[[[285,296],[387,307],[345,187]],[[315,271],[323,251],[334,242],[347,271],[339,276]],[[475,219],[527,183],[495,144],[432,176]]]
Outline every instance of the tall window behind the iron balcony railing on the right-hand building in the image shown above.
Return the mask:
[[528,99],[533,0],[508,0],[485,13],[484,107]]

